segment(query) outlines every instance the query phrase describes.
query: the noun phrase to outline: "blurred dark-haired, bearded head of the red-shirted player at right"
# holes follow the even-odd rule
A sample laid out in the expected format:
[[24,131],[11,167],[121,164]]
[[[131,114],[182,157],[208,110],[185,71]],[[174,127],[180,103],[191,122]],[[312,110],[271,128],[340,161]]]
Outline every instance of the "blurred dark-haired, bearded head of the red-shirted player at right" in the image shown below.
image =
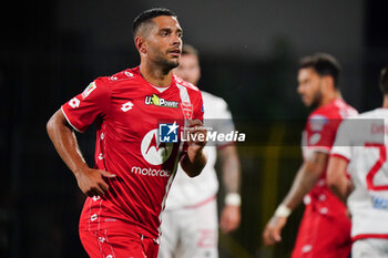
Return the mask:
[[340,65],[327,53],[305,56],[299,62],[297,91],[306,106],[320,105],[326,94],[338,90]]

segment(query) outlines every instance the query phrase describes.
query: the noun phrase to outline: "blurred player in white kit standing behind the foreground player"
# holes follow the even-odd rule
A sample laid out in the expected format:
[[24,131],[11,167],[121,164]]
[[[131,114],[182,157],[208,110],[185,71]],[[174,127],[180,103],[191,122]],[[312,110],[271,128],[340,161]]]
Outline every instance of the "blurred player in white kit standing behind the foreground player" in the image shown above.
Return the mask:
[[[184,45],[180,66],[174,73],[196,84],[201,76],[197,51]],[[202,91],[204,123],[218,132],[234,130],[226,102]],[[217,118],[217,120],[212,120]],[[213,145],[213,146],[212,146]],[[225,207],[221,214],[219,227],[223,233],[235,230],[241,220],[239,161],[234,144],[207,143],[207,164],[200,176],[187,177],[178,169],[171,187],[166,208],[162,214],[162,238],[160,258],[216,258],[218,223],[216,194],[218,182],[215,163],[221,159],[223,182],[226,190]]]

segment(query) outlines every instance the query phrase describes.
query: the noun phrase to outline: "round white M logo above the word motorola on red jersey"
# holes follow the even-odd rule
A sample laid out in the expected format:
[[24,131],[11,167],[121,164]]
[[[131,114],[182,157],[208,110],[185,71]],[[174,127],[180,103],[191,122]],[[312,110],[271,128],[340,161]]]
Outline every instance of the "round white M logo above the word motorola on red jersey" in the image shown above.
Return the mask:
[[161,165],[167,161],[173,147],[173,143],[160,143],[157,128],[150,131],[141,144],[144,159],[152,165]]

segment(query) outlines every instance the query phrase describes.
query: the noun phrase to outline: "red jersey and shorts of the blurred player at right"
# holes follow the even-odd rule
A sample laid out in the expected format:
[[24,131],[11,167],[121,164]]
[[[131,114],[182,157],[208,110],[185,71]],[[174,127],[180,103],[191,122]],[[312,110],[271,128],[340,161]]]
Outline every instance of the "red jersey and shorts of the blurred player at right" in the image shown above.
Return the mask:
[[[307,159],[314,152],[329,153],[343,118],[357,111],[343,100],[318,107],[309,116],[303,133],[303,154]],[[350,219],[346,206],[326,184],[326,168],[304,199],[306,209],[299,225],[293,258],[346,258],[350,252]]]

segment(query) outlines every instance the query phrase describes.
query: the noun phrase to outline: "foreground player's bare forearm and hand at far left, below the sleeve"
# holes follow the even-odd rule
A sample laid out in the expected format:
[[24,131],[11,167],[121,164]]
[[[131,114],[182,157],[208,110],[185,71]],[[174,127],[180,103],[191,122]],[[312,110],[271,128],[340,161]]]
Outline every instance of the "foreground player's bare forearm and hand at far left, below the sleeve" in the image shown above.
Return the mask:
[[115,175],[88,166],[79,148],[74,131],[61,110],[51,116],[47,124],[47,131],[58,154],[73,172],[81,190],[88,196],[104,195],[109,186],[102,176],[115,177]]

